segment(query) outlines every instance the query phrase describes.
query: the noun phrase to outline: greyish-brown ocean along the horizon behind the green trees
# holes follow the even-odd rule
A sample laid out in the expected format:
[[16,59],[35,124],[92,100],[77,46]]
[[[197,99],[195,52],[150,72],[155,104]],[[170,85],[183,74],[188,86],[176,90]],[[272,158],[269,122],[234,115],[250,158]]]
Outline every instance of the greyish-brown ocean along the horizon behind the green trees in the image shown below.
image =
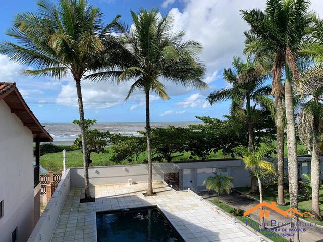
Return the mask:
[[[166,128],[169,125],[175,127],[188,127],[192,124],[200,122],[151,122],[151,127]],[[73,123],[42,123],[49,134],[58,143],[70,143],[80,134],[80,127]],[[118,133],[122,135],[139,136],[137,131],[144,131],[145,122],[116,122],[116,123],[96,123],[92,126],[93,129],[100,131],[110,131],[111,133]]]

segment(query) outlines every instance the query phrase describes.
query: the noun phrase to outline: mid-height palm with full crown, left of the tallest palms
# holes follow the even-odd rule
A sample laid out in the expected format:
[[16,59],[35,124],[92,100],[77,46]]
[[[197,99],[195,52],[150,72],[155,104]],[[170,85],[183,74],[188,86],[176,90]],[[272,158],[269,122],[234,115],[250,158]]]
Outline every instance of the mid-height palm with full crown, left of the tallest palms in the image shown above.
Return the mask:
[[[263,85],[266,78],[263,69],[258,68],[255,63],[250,62],[249,58],[246,63],[243,63],[241,58],[234,57],[232,66],[233,69],[229,68],[224,70],[224,79],[231,84],[232,87],[210,93],[207,100],[213,105],[214,103],[231,99],[230,114],[234,128],[237,133],[244,130],[244,127],[241,127],[241,124],[243,124],[245,118],[248,130],[249,149],[254,151],[253,116],[255,107],[258,105],[261,108],[266,108],[274,113],[274,102],[269,97],[272,90],[270,85]],[[251,75],[250,73],[253,74]],[[251,102],[254,102],[255,105],[252,105]],[[244,111],[244,105],[246,111]],[[256,190],[257,184],[253,170],[251,170],[250,193],[255,193]]]

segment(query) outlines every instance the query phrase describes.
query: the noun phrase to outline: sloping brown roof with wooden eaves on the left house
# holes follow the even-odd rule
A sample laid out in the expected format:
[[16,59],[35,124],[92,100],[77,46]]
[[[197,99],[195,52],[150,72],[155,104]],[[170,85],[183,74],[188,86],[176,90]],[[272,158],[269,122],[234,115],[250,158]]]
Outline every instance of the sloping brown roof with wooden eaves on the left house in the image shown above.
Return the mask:
[[53,138],[26,104],[15,82],[0,82],[0,100],[4,100],[11,112],[15,113],[24,126],[31,130],[34,142],[53,141]]

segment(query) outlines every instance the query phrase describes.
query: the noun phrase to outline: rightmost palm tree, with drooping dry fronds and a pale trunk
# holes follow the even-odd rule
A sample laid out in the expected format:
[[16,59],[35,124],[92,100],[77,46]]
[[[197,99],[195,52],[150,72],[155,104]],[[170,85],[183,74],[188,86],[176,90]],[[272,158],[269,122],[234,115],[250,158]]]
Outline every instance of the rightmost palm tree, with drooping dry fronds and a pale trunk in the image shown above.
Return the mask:
[[[317,68],[312,68],[303,73],[304,78],[316,76]],[[318,143],[322,134],[323,122],[323,87],[306,95],[306,102],[300,106],[298,117],[298,132],[302,142],[310,150],[312,149],[311,159],[311,189],[312,189],[312,212],[315,217],[320,218],[319,188],[320,188],[320,151]]]

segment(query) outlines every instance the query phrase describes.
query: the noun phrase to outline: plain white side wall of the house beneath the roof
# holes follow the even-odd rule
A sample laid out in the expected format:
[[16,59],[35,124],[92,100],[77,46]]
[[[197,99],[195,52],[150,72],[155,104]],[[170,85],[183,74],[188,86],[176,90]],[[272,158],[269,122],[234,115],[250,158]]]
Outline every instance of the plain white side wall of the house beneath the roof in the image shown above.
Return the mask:
[[33,135],[3,100],[0,124],[0,241],[11,242],[17,226],[17,240],[26,241],[33,228]]

